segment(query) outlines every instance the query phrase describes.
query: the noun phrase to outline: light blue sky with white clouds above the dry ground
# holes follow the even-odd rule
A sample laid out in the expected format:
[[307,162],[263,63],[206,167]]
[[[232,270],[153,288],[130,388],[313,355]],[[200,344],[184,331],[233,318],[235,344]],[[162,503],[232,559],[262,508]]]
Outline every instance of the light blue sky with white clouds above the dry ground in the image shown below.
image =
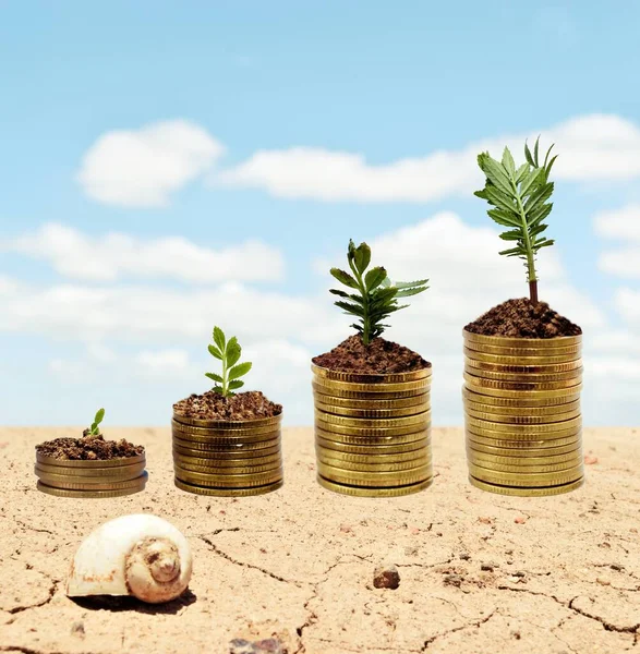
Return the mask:
[[[469,245],[493,227],[466,166],[476,144],[497,155],[542,132],[545,143],[557,137],[560,158],[557,246],[548,268],[541,261],[541,291],[551,278],[548,299],[589,336],[587,421],[637,424],[638,24],[631,1],[0,2],[0,423],[77,424],[105,404],[112,424],[165,424],[172,401],[206,388],[207,320],[253,348],[255,382],[290,407],[290,424],[310,423],[306,358],[349,334],[323,270],[350,237],[378,243],[391,275],[432,278],[388,337],[433,360],[436,375],[439,366],[434,419],[460,422],[459,329],[505,293],[526,292],[518,267],[504,268],[514,275],[502,286],[497,239],[486,253]],[[160,177],[154,159],[126,149],[145,129],[157,143],[158,124],[179,142],[161,150],[170,170]],[[122,133],[129,145],[111,138]],[[437,153],[454,156],[440,166]],[[426,160],[414,179],[396,166],[408,159]],[[138,182],[157,191],[154,203],[132,196]],[[50,225],[68,231],[52,235]],[[469,249],[455,283],[454,254],[428,240],[437,226]],[[415,230],[407,256],[403,229]],[[133,264],[100,249],[113,232],[134,240]],[[205,265],[257,241],[282,272],[247,279],[237,270],[257,264],[241,252],[219,282],[194,281],[165,269],[179,261],[171,243],[144,250],[167,237],[201,249]],[[165,263],[136,268],[141,249]],[[65,267],[70,257],[80,263]],[[83,257],[112,274],[84,274]],[[491,279],[485,262],[498,267]],[[140,306],[147,292],[149,315],[185,299],[183,322],[169,316],[160,329],[133,312],[106,329],[105,312]],[[254,292],[271,298],[261,315],[250,311]],[[97,325],[90,301],[76,306],[83,293],[108,294],[96,299]],[[306,322],[288,320],[290,311]]]

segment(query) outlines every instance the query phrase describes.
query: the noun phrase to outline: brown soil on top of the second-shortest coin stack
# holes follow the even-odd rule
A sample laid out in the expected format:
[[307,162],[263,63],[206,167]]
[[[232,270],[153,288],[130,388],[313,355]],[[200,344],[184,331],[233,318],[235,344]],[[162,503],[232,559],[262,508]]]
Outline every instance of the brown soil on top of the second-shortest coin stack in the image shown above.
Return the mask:
[[282,405],[268,400],[258,390],[240,392],[230,398],[208,390],[198,396],[192,395],[173,404],[173,411],[184,417],[198,420],[256,420],[282,413]]

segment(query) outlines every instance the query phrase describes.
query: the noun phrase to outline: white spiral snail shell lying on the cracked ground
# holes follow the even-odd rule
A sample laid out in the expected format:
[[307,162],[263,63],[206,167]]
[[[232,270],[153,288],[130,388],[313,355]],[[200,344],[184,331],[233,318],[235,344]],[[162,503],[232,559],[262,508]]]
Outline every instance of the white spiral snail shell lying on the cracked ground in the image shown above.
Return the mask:
[[69,597],[133,595],[160,604],[179,597],[192,571],[189,541],[148,513],[105,522],[81,544],[67,584]]

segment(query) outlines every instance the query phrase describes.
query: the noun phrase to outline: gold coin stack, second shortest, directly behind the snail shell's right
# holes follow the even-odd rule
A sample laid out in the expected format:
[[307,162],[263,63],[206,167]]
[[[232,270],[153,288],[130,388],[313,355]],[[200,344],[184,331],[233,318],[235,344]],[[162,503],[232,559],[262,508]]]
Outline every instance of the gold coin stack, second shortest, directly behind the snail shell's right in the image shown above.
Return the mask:
[[173,413],[176,486],[198,495],[244,497],[282,486],[282,414],[247,421]]

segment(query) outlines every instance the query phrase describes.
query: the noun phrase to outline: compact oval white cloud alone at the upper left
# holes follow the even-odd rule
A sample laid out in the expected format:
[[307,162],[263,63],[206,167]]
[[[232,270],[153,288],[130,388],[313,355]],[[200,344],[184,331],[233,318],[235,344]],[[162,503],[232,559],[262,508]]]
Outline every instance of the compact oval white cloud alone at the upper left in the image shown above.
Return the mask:
[[76,179],[93,199],[160,207],[221,156],[206,130],[185,120],[102,134],[83,157]]

